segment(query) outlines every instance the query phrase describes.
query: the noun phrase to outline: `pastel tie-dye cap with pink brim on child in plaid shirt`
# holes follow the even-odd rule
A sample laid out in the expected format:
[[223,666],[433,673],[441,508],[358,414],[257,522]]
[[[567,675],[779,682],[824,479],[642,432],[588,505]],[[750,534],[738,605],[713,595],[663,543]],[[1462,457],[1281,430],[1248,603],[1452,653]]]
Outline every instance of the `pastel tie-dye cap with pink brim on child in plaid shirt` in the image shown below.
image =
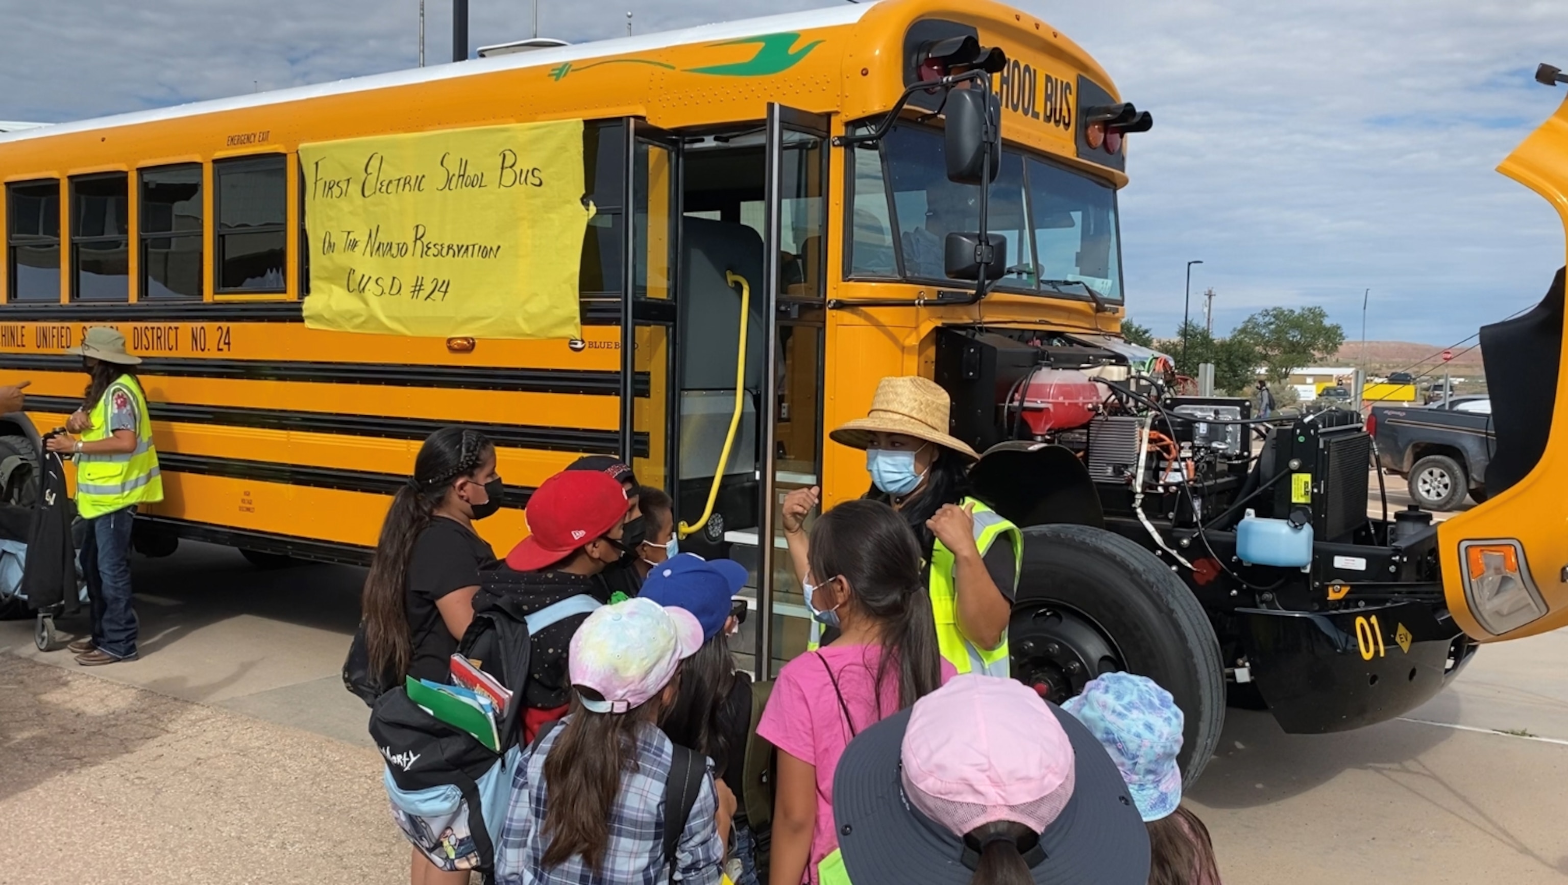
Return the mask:
[[682,608],[630,598],[596,608],[572,634],[568,670],[593,713],[635,710],[670,685],[681,661],[702,647],[702,625]]

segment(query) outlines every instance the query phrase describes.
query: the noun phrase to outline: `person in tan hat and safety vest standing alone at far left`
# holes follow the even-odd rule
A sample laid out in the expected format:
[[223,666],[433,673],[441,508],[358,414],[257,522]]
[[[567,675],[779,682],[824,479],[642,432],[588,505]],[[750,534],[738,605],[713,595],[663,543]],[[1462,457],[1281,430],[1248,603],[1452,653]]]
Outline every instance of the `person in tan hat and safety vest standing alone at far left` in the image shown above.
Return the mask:
[[141,357],[125,352],[125,335],[93,326],[80,354],[91,376],[86,396],[66,421],[82,434],[52,434],[49,451],[77,459],[77,512],[86,522],[82,570],[93,605],[93,636],[67,645],[85,667],[136,659],[136,612],[130,605],[130,526],[136,504],[162,501],[158,453],[152,448],[147,398],[130,367]]

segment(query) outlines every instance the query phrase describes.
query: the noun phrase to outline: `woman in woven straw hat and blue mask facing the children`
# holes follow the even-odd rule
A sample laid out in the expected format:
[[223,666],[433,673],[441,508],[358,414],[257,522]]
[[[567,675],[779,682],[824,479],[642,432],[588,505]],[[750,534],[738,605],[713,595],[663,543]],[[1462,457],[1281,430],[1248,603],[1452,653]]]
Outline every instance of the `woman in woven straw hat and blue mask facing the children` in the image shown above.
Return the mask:
[[[928,564],[931,612],[942,658],[960,674],[1008,675],[1007,622],[1018,592],[1024,539],[983,501],[969,497],[969,467],[980,461],[969,445],[947,432],[952,399],[925,377],[884,377],[872,409],[829,435],[866,450],[872,487],[866,498],[892,504]],[[784,498],[784,539],[795,576],[804,581],[809,544],[806,515],[820,501],[817,487]],[[820,575],[818,580],[831,578]],[[834,612],[812,605],[815,587],[803,584],[817,623],[833,627]]]

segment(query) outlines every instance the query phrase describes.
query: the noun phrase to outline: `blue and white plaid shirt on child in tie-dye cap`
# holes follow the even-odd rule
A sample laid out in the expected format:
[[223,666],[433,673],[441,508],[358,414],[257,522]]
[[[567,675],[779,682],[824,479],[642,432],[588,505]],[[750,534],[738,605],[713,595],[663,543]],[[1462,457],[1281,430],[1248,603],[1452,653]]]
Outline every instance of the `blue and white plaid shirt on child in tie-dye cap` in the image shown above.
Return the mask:
[[[572,857],[552,869],[541,858],[549,847],[544,836],[544,757],[564,725],[552,730],[544,742],[522,757],[513,775],[511,804],[495,851],[495,879],[500,885],[657,885],[670,880],[665,863],[665,778],[670,774],[670,738],[654,725],[643,725],[637,736],[637,769],[621,774],[621,793],[610,808],[610,846],[597,872]],[[676,847],[674,880],[690,885],[718,885],[724,844],[718,840],[713,774],[702,778],[702,789],[685,833]]]

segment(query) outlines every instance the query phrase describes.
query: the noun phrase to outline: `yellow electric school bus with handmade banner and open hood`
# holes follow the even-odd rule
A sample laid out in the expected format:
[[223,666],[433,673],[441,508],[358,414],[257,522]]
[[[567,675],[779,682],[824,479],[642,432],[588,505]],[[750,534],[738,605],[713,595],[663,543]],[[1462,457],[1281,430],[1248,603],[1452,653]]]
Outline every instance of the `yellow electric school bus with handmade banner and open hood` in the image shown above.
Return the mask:
[[[1505,166],[1559,208],[1563,121]],[[1433,526],[1366,517],[1355,418],[1270,428],[1149,374],[1116,193],[1151,125],[1049,22],[889,0],[0,135],[0,368],[33,381],[0,437],[63,424],[64,349],[116,326],[166,492],[138,548],[259,562],[367,561],[444,424],[497,445],[497,548],[544,478],[619,454],[687,550],[757,565],[768,674],[808,627],[781,497],[861,495],[826,431],[922,374],[1025,529],[1013,675],[1055,702],[1154,677],[1189,778],[1226,680],[1289,731],[1355,728],[1568,620],[1563,387],[1493,379],[1512,489]],[[1560,326],[1559,287],[1488,359],[1555,367]]]

